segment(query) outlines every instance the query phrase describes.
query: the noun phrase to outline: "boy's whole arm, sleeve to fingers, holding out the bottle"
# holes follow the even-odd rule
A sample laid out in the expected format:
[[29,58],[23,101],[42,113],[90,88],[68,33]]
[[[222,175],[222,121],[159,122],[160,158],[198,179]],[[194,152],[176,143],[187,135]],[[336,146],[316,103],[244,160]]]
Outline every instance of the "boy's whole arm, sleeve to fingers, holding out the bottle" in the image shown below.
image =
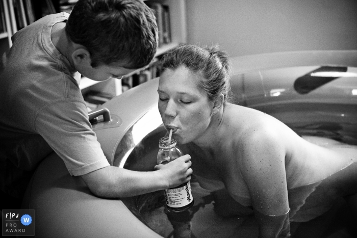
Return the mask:
[[125,197],[175,187],[190,179],[190,156],[156,171],[137,172],[110,166],[100,148],[82,100],[65,98],[38,113],[36,130],[62,158],[71,175],[82,176],[100,197]]

